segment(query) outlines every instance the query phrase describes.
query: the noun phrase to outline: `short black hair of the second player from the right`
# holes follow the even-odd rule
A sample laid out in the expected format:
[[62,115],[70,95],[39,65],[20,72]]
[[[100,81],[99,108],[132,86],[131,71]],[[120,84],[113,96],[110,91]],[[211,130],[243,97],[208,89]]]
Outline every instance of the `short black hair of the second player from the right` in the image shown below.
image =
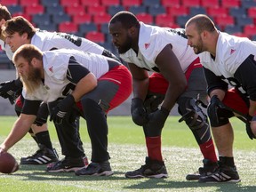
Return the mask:
[[116,22],[121,22],[124,28],[140,27],[140,21],[132,12],[117,12],[109,21],[109,24],[114,24]]

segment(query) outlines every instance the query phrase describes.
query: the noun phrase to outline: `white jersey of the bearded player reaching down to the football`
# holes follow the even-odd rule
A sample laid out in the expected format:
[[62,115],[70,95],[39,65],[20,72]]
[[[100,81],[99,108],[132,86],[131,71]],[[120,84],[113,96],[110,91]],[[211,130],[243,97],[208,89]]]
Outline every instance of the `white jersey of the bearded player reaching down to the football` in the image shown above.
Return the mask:
[[[23,89],[26,100],[43,100],[52,102],[58,98],[66,97],[68,84],[72,84],[67,78],[68,63],[70,57],[74,57],[78,63],[87,68],[96,78],[100,78],[108,72],[108,60],[106,57],[71,49],[60,49],[44,52],[44,84],[33,95],[28,95]],[[74,84],[73,84],[74,87]],[[65,90],[65,95],[62,92]],[[71,93],[72,90],[68,90]]]

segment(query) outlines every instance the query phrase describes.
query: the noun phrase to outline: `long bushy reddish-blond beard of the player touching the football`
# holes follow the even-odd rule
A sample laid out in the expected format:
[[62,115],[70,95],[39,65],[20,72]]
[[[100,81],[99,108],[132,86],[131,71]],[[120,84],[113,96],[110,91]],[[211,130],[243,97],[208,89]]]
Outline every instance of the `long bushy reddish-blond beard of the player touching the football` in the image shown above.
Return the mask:
[[27,76],[20,76],[23,87],[28,94],[33,94],[42,83],[40,69],[29,65]]

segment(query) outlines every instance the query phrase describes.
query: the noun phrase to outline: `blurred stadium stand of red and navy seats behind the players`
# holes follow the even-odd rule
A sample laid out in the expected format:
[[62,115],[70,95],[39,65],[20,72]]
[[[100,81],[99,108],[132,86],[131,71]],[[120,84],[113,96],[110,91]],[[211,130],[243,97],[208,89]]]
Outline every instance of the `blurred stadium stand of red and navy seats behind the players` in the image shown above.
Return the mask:
[[[256,0],[0,0],[0,4],[37,28],[89,36],[111,49],[108,20],[122,10],[145,23],[171,28],[183,28],[191,16],[205,13],[220,30],[256,39]],[[0,52],[0,65],[3,57]]]

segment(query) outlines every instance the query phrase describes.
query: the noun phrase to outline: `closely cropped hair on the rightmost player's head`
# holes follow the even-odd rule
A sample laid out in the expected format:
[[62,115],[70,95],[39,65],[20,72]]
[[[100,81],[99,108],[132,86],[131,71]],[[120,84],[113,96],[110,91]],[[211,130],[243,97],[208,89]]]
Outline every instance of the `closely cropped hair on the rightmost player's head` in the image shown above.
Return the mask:
[[192,23],[196,24],[196,28],[199,34],[202,33],[204,30],[209,32],[213,32],[214,30],[216,30],[213,21],[210,19],[210,17],[204,14],[197,14],[196,16],[192,17],[188,20],[186,26]]

